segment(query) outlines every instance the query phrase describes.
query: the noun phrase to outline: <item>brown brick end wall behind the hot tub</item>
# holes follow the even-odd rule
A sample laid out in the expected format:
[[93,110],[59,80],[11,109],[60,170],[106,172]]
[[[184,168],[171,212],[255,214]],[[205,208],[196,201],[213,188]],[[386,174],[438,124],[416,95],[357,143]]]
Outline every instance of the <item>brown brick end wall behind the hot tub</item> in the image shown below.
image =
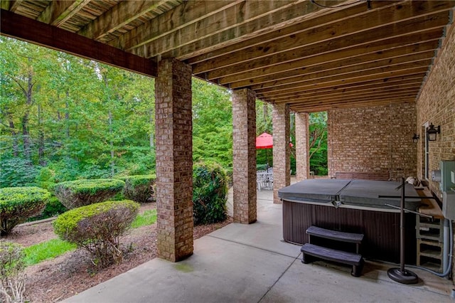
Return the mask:
[[328,111],[328,175],[389,171],[392,180],[416,176],[414,103]]

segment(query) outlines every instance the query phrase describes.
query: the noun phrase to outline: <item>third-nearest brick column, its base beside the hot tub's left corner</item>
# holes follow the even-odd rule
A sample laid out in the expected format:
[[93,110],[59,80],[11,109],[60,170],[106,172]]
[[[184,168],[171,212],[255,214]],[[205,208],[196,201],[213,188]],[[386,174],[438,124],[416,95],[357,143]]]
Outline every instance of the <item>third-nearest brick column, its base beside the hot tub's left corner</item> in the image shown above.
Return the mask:
[[289,105],[273,105],[273,203],[282,203],[278,190],[291,184]]

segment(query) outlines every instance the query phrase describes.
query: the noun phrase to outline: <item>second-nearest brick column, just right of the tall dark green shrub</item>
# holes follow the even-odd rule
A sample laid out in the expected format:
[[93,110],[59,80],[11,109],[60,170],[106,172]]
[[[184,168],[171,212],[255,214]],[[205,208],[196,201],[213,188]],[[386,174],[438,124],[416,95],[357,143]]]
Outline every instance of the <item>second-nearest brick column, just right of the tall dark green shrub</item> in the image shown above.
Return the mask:
[[234,222],[254,223],[256,213],[256,97],[252,90],[232,93]]

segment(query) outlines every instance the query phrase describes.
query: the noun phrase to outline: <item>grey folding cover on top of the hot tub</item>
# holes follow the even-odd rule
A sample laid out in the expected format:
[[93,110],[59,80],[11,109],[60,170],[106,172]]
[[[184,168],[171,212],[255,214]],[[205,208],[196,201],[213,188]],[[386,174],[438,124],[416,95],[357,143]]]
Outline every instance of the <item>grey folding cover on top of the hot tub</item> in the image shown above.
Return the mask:
[[[399,182],[348,180],[348,179],[309,179],[279,189],[278,196],[285,201],[331,203],[346,206],[385,208],[400,207],[400,198],[380,198],[380,196],[400,196]],[[411,184],[406,184],[406,196],[418,197]],[[419,198],[406,198],[405,208],[414,211],[420,203]]]

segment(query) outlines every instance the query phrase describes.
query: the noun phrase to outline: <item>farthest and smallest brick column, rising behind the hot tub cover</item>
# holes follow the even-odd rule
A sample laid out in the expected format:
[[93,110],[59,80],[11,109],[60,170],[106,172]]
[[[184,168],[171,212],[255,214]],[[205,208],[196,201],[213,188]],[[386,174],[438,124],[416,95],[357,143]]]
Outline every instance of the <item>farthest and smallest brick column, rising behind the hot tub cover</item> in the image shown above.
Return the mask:
[[309,115],[308,112],[296,113],[296,179],[301,181],[309,178]]

